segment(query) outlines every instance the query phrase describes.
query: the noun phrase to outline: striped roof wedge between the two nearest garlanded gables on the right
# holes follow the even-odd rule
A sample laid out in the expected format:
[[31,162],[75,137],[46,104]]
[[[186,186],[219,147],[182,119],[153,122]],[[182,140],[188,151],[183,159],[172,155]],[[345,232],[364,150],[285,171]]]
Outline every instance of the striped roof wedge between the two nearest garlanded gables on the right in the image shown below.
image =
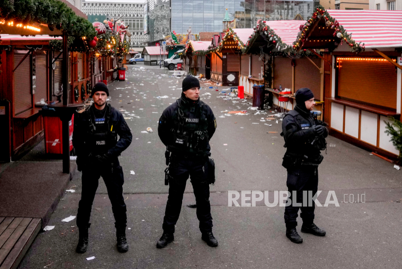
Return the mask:
[[275,33],[280,37],[282,43],[286,45],[293,45],[297,39],[297,34],[300,31],[300,25],[306,23],[305,20],[277,20],[277,21],[264,21]]

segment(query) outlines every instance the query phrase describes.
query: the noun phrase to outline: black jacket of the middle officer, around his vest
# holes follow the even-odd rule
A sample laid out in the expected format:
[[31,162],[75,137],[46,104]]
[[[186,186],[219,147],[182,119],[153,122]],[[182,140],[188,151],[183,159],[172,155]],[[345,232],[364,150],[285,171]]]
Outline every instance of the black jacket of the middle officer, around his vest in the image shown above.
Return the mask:
[[[208,132],[208,141],[205,149],[201,154],[210,155],[211,146],[209,145],[209,140],[214,135],[216,130],[216,119],[212,109],[202,102],[200,99],[197,101],[192,101],[187,99],[184,94],[180,99],[178,99],[175,103],[168,106],[162,113],[162,116],[159,119],[158,124],[158,135],[162,143],[168,147],[168,149],[172,152],[172,154],[176,155],[192,155],[194,153],[191,149],[179,149],[175,147],[175,136],[174,133],[177,132],[178,126],[178,113],[179,113],[179,105],[184,112],[183,118],[192,119],[197,118],[196,114],[197,109],[201,109],[201,113],[204,113],[206,119],[205,129]],[[202,117],[199,117],[200,119]],[[200,152],[199,152],[200,153]],[[198,153],[198,154],[199,154]]]

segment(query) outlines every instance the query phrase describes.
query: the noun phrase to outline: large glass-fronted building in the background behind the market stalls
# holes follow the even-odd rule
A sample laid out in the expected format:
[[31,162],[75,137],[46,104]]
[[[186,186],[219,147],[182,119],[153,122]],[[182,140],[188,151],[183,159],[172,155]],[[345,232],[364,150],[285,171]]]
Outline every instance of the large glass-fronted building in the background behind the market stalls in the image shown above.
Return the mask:
[[236,28],[252,28],[259,19],[293,20],[297,15],[307,19],[319,4],[314,0],[147,0],[149,41],[162,40],[171,31],[194,35],[222,31],[222,20],[228,9]]

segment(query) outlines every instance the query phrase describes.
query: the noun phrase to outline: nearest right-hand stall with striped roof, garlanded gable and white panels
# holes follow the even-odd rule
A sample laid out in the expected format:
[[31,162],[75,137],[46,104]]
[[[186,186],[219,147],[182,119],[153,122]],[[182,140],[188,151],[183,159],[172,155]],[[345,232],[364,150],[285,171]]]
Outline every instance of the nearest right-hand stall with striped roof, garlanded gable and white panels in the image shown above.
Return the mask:
[[331,63],[324,89],[330,134],[389,158],[399,154],[385,132],[388,117],[401,116],[401,29],[401,11],[319,7],[294,42],[298,51],[325,50]]

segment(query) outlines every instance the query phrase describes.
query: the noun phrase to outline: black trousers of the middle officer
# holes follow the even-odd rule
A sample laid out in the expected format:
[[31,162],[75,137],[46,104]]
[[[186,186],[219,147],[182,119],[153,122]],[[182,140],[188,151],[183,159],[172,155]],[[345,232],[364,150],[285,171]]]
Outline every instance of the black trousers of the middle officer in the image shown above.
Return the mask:
[[212,231],[211,205],[209,203],[208,157],[170,158],[169,196],[163,218],[163,231],[174,233],[174,225],[179,219],[182,209],[183,194],[186,181],[190,176],[197,204],[197,218],[200,221],[201,233]]

